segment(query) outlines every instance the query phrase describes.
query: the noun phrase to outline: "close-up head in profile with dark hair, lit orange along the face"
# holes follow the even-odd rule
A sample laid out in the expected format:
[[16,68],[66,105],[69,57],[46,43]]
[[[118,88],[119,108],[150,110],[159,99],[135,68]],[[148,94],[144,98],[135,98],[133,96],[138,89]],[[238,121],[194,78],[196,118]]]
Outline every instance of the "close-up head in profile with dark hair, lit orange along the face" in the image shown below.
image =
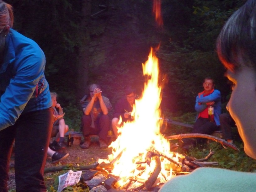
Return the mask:
[[227,21],[217,39],[217,53],[233,83],[227,104],[244,142],[256,159],[256,0],[248,0]]

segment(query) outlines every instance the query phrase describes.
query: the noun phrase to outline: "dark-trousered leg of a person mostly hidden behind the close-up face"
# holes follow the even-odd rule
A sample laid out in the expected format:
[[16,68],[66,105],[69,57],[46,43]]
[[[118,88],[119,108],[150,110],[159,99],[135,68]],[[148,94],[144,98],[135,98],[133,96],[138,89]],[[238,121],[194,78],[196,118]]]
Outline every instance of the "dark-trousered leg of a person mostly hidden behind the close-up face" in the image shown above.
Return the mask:
[[220,123],[224,139],[227,142],[233,143],[231,127],[235,126],[235,121],[232,119],[229,113],[222,113],[220,115]]

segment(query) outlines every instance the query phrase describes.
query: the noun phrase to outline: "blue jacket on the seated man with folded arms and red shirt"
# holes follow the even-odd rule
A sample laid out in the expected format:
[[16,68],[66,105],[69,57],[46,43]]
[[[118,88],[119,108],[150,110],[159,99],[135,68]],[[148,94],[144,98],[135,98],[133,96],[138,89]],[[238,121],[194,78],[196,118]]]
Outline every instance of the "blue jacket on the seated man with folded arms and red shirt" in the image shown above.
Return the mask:
[[214,107],[214,121],[217,126],[221,125],[220,123],[220,114],[221,114],[221,92],[219,90],[214,89],[214,91],[208,95],[203,97],[203,92],[199,93],[195,100],[195,110],[197,112],[196,120],[199,116],[199,113],[205,110],[208,105],[206,103],[215,101]]

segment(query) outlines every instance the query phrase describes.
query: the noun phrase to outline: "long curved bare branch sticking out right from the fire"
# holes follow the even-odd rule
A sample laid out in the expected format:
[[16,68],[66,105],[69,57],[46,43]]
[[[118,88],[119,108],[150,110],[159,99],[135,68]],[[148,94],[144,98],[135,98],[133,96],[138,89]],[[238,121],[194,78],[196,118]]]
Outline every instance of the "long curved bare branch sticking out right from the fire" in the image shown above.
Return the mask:
[[207,135],[207,134],[201,134],[201,133],[188,133],[188,134],[179,134],[179,135],[172,135],[172,136],[167,136],[167,140],[174,140],[174,139],[183,139],[183,138],[192,138],[192,137],[200,137],[200,138],[206,138],[206,139],[211,139],[213,141],[221,143],[221,145],[226,148],[224,145],[227,145],[228,147],[231,147],[232,149],[236,151],[240,151],[237,146],[233,143],[229,143],[225,141],[224,139],[220,139],[215,136]]

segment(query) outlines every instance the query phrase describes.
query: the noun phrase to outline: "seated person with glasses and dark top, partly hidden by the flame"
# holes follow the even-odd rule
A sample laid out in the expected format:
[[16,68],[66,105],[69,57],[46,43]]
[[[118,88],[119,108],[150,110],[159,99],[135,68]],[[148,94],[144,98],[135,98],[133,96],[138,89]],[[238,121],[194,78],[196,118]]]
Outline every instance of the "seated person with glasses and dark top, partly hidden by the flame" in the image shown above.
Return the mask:
[[[125,88],[125,96],[118,100],[115,105],[114,118],[111,121],[112,130],[115,136],[118,136],[118,128],[123,125],[124,122],[132,121],[131,111],[133,110],[133,105],[135,105],[136,91],[131,86]],[[118,124],[120,116],[122,118],[122,123]]]

